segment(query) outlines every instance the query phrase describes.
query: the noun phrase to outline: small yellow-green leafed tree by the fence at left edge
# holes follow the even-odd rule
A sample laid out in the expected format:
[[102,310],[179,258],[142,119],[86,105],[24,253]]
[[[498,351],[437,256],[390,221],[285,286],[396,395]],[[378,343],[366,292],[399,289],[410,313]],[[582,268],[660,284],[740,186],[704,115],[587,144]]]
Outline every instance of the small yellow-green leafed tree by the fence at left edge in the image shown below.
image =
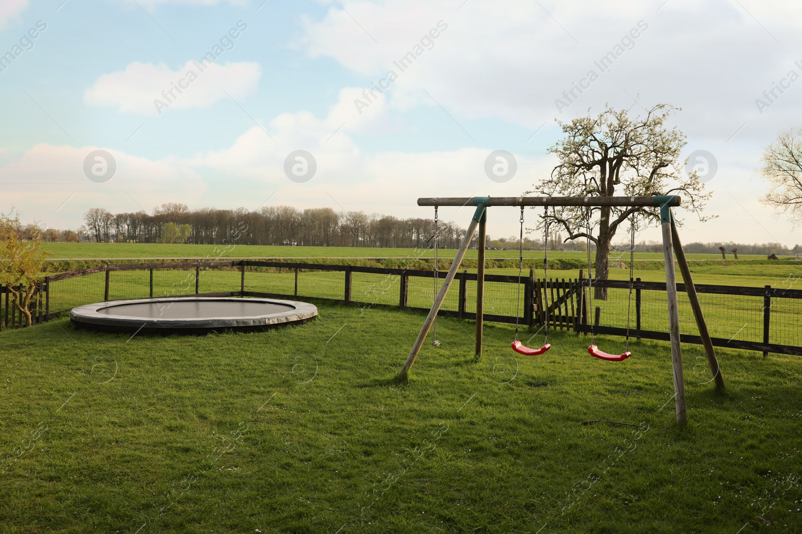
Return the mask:
[[40,232],[23,241],[18,214],[0,213],[0,283],[10,291],[14,307],[25,316],[27,327],[33,323],[30,299],[45,277],[46,257]]

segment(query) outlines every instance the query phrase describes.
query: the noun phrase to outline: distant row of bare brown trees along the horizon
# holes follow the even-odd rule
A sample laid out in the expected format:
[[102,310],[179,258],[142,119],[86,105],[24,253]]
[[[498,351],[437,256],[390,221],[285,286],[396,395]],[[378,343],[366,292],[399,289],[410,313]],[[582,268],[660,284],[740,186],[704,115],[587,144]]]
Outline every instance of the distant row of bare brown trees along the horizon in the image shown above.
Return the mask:
[[[196,243],[245,245],[299,245],[311,247],[403,247],[431,248],[435,233],[433,219],[399,219],[392,215],[371,214],[363,211],[334,211],[331,208],[298,210],[291,206],[262,207],[257,211],[245,208],[218,210],[201,208],[189,210],[184,204],[166,203],[157,207],[152,215],[145,211],[112,214],[104,208],[91,208],[84,215],[85,226],[78,231],[37,228],[34,225],[20,228],[23,237],[42,231],[47,241],[97,241],[99,243]],[[456,223],[439,221],[439,247],[457,248],[464,239],[465,230]],[[518,236],[492,239],[488,235],[487,247],[517,249]],[[476,247],[474,239],[473,247]],[[549,235],[549,250],[585,251],[584,239],[563,243],[560,233]],[[591,245],[593,250],[593,245]],[[802,253],[802,246],[788,248],[781,243],[686,243],[683,249],[689,254],[720,254],[724,247],[727,255],[733,248],[743,255],[792,255]],[[524,250],[542,250],[543,242],[524,238]],[[629,251],[629,243],[614,245],[619,251]],[[661,252],[662,243],[642,241],[635,245],[636,252]]]

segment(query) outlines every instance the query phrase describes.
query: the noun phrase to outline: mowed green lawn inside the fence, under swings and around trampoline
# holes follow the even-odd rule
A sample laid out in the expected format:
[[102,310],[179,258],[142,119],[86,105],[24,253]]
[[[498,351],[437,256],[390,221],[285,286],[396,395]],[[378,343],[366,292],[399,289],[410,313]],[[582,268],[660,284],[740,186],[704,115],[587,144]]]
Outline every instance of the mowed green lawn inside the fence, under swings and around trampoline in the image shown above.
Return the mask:
[[487,324],[475,362],[473,323],[440,319],[399,383],[422,314],[319,307],[246,335],[0,333],[4,532],[802,528],[798,357],[719,349],[717,394],[684,346],[680,429],[667,343],[609,363],[553,332],[525,358]]

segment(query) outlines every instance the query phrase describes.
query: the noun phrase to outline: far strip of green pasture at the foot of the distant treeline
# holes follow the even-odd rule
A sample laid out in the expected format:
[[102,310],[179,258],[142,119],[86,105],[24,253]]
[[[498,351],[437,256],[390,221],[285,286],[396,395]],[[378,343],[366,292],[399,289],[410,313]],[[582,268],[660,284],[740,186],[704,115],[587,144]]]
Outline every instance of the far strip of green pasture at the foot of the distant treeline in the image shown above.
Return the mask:
[[[115,258],[431,258],[431,249],[367,247],[271,247],[259,245],[170,245],[158,243],[45,243],[52,259]],[[476,258],[468,251],[467,258]],[[453,258],[455,249],[439,251]],[[527,258],[542,258],[542,251],[524,251]],[[487,251],[488,258],[517,258],[518,251]],[[584,258],[584,252],[549,252],[549,257]],[[627,255],[627,258],[629,255]],[[637,259],[662,259],[662,253],[638,252]],[[766,259],[764,255],[741,255],[743,259]],[[721,259],[718,254],[689,254],[689,259]],[[731,254],[727,255],[731,259]]]

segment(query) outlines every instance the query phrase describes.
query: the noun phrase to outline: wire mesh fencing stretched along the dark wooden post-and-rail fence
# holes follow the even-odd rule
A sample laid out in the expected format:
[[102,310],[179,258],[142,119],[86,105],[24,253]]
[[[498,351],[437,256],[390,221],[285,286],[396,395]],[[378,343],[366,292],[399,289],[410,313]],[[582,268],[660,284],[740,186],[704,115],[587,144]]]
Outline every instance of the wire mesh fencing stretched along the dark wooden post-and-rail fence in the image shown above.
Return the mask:
[[[237,262],[142,263],[92,267],[47,277],[39,307],[44,316],[116,299],[188,295],[273,296],[328,299],[368,306],[428,310],[446,277],[439,271],[241,260]],[[460,271],[449,287],[442,315],[476,317],[477,275]],[[595,280],[606,298],[589,293],[587,279],[535,279],[486,275],[483,314],[488,321],[523,326],[626,334],[667,339],[666,284]],[[698,343],[697,319],[678,284],[683,341]],[[699,307],[714,344],[802,355],[802,291],[772,287],[696,285]],[[13,301],[0,288],[0,327],[19,325]],[[14,313],[17,316],[14,316]],[[4,314],[9,319],[4,318]]]

